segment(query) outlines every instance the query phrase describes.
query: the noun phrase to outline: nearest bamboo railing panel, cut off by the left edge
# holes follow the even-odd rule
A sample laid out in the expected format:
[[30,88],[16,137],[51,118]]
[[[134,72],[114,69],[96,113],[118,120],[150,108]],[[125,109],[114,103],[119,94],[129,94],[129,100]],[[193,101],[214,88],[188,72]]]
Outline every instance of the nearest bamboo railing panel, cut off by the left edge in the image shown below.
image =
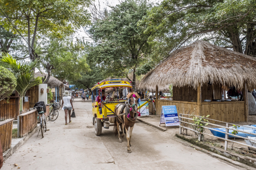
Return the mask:
[[0,135],[3,152],[11,148],[12,121],[14,118],[9,118],[0,122]]

